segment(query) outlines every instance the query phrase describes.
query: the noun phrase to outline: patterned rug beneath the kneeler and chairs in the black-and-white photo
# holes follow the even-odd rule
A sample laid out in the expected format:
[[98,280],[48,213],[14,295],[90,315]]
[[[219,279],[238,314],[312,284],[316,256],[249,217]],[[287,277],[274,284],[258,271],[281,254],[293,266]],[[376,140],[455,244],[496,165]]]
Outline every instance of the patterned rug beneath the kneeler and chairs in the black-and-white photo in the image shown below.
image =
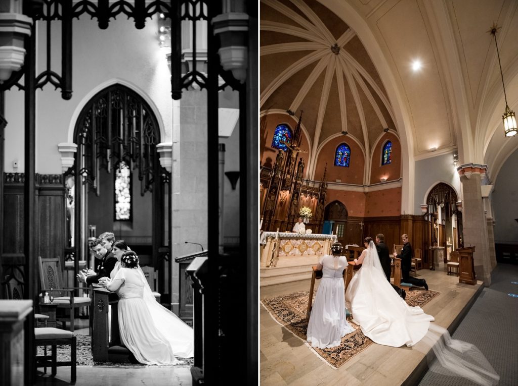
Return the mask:
[[[139,367],[159,367],[148,366],[141,363],[132,363],[130,361],[113,363],[113,362],[94,362],[92,358],[92,337],[89,335],[76,334],[76,359],[78,367],[123,367],[123,368],[139,368]],[[47,353],[50,354],[50,346],[47,346]],[[44,347],[38,346],[38,355],[44,354]],[[183,363],[177,365],[169,365],[163,367],[191,367],[194,365],[194,358],[177,358]],[[57,346],[57,361],[66,362],[70,360],[70,346]]]

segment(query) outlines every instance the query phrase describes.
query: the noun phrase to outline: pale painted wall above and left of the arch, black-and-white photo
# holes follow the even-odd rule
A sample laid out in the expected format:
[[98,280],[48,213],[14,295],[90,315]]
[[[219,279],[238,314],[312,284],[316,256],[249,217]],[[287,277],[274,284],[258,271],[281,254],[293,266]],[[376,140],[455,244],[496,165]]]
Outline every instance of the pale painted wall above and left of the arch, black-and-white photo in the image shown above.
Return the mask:
[[[46,34],[38,22],[37,73],[46,68]],[[52,23],[51,69],[61,74],[61,25]],[[122,83],[141,95],[155,113],[161,128],[161,142],[172,138],[170,73],[165,54],[159,47],[157,22],[147,20],[143,29],[132,20],[111,20],[102,30],[96,20],[83,16],[73,21],[73,94],[61,98],[60,90],[47,84],[36,92],[36,173],[61,173],[60,142],[72,142],[74,125],[82,107],[101,89]],[[16,87],[6,92],[5,172],[24,172],[23,92]],[[18,160],[18,169],[12,161]]]

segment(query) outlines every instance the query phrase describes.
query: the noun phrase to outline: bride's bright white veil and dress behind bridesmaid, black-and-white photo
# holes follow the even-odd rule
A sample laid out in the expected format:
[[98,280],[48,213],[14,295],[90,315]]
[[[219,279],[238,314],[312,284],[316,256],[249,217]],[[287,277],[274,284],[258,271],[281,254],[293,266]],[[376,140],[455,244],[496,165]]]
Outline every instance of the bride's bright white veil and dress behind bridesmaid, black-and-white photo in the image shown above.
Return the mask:
[[[110,276],[112,277],[112,280],[115,280],[119,272],[128,270],[132,272],[134,271],[138,274],[142,281],[142,300],[143,304],[146,305],[146,308],[142,310],[142,312],[147,313],[150,316],[153,328],[155,328],[166,339],[174,353],[174,356],[180,358],[194,357],[194,330],[182,319],[176,316],[175,313],[167,310],[167,308],[156,301],[153,292],[149,287],[148,281],[146,280],[146,276],[140,266],[137,269],[121,268],[120,263],[117,263]],[[122,336],[120,315],[119,327]],[[146,333],[146,330],[143,330],[143,332]],[[130,349],[130,347],[127,348]]]

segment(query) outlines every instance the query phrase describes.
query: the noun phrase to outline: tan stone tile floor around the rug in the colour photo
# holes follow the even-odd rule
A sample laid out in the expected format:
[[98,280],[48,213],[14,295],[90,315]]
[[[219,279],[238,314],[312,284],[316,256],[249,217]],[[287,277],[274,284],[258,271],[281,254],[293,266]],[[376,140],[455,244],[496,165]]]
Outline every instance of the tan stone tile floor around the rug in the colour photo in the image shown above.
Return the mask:
[[[454,330],[469,306],[480,294],[482,282],[460,284],[458,277],[447,275],[445,267],[436,271],[420,270],[429,289],[440,292],[423,309],[435,317],[435,324]],[[318,281],[317,281],[318,282]],[[299,281],[261,287],[260,298],[309,290],[310,282]],[[388,347],[371,344],[338,369],[330,367],[301,339],[277,323],[261,306],[260,379],[262,386],[313,385],[413,385],[433,356],[425,339],[413,347]]]

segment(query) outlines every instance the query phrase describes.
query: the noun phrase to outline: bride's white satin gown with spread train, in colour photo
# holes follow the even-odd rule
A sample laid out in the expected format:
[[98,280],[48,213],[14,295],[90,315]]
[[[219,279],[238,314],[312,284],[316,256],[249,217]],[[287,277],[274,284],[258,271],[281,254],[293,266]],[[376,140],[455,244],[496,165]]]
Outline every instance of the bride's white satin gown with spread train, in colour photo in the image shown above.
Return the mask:
[[362,267],[347,287],[346,304],[364,335],[386,346],[415,345],[434,320],[421,307],[409,306],[394,291],[386,280],[372,241]]

